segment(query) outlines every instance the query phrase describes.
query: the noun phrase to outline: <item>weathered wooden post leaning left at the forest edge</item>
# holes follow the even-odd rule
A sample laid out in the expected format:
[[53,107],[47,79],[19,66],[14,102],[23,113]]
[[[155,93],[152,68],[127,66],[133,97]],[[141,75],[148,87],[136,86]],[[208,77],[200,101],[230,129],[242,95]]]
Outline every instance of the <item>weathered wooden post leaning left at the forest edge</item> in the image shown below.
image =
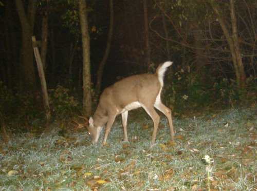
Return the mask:
[[50,106],[49,106],[48,93],[47,93],[47,87],[46,87],[46,79],[45,79],[45,73],[44,73],[41,56],[39,53],[39,48],[38,48],[38,44],[36,43],[35,36],[32,36],[32,45],[34,49],[36,64],[38,65],[39,77],[40,77],[41,88],[43,93],[43,103],[46,110],[46,121],[47,123],[49,123],[51,114],[50,114]]

